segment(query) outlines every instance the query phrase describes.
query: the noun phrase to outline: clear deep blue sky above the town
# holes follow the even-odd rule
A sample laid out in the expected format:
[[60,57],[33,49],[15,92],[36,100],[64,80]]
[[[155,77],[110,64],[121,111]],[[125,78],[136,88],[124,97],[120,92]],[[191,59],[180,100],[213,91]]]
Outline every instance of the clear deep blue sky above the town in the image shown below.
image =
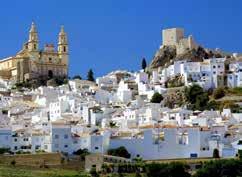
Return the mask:
[[14,55],[32,21],[40,44],[57,44],[63,24],[70,75],[138,70],[161,44],[161,30],[183,27],[205,47],[242,52],[240,0],[8,0],[0,6],[0,58]]

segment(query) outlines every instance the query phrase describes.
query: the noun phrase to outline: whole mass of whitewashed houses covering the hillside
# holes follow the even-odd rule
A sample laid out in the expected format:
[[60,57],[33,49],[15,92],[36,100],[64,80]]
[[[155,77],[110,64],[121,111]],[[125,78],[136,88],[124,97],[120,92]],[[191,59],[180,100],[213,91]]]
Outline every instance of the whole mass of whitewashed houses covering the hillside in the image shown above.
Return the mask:
[[[197,47],[189,41],[194,43],[191,37],[180,43]],[[114,71],[96,83],[74,79],[22,92],[1,80],[0,148],[65,154],[86,148],[106,154],[124,146],[131,158],[145,160],[212,157],[217,149],[221,157],[234,157],[242,149],[242,113],[172,109],[163,101],[151,102],[155,93],[169,92],[166,82],[172,78],[204,89],[242,86],[241,63],[234,60],[226,67],[226,60],[180,60],[149,74]]]

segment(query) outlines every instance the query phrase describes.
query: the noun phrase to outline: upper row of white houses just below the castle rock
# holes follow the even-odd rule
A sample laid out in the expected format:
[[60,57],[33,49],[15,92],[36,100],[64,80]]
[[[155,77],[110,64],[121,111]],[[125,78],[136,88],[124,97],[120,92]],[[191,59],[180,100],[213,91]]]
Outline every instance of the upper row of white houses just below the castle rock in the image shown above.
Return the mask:
[[165,85],[170,79],[181,77],[185,86],[196,83],[206,90],[241,86],[242,63],[240,59],[229,63],[227,68],[226,60],[229,59],[209,58],[202,62],[175,61],[167,68],[153,70],[153,80]]

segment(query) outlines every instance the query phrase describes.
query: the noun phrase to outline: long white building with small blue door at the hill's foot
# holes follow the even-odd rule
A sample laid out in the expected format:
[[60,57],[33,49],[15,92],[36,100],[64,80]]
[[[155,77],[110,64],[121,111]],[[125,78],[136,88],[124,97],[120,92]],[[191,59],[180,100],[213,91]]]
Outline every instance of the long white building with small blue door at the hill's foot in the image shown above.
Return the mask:
[[199,128],[168,128],[163,132],[163,138],[159,138],[159,131],[146,130],[143,138],[111,139],[110,148],[125,146],[131,158],[144,160],[212,157],[215,147],[208,141],[209,132]]

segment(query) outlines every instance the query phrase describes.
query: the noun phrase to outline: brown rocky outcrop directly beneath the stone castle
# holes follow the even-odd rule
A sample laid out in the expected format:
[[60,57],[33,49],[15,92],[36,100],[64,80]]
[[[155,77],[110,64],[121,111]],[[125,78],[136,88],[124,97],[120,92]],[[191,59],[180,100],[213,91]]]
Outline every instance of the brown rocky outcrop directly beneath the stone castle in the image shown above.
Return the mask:
[[223,55],[219,52],[207,51],[202,47],[197,49],[189,50],[187,49],[184,53],[177,55],[175,46],[163,46],[155,54],[149,68],[156,69],[158,67],[164,68],[173,64],[174,61],[188,60],[192,62],[201,62],[203,58],[219,58]]

